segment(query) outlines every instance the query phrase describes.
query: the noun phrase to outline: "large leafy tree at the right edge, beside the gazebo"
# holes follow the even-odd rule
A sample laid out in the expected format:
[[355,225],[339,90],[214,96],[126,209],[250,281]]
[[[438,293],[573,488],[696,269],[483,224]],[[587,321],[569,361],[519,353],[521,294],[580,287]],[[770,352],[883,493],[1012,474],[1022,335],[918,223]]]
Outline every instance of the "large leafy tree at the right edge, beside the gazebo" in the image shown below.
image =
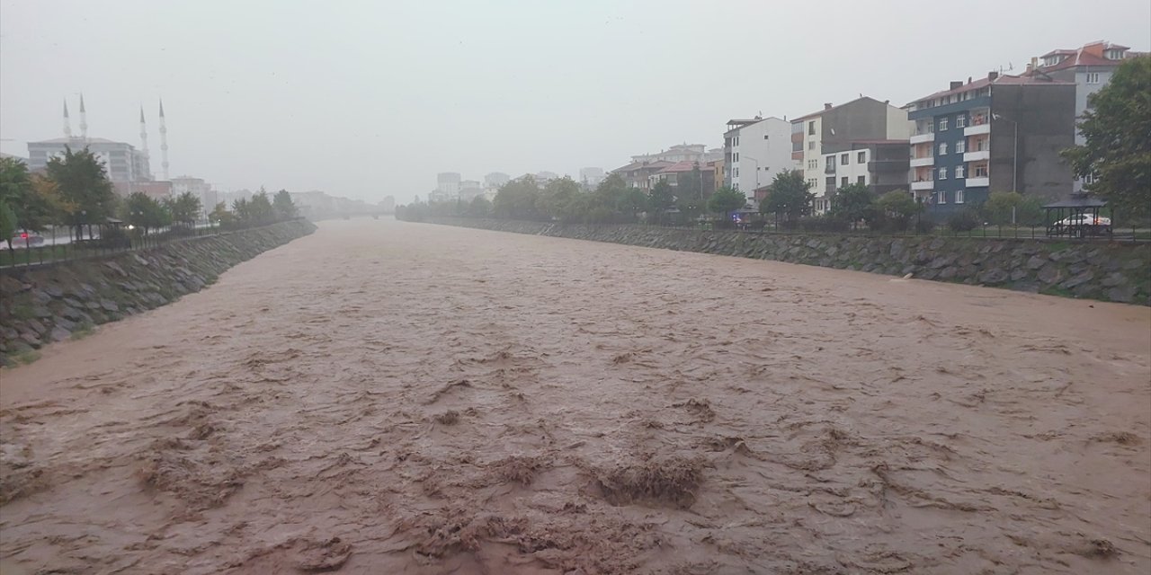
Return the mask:
[[1111,82],[1088,97],[1078,123],[1084,144],[1064,152],[1087,191],[1113,209],[1151,215],[1151,57],[1119,64]]

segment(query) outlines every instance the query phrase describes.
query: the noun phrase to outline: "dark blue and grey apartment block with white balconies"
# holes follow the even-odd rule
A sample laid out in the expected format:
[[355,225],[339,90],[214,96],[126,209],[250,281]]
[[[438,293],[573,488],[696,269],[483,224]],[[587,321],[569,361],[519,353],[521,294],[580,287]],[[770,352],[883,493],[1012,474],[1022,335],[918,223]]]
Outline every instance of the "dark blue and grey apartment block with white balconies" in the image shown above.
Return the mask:
[[1075,143],[1075,84],[991,72],[910,105],[912,192],[931,212],[992,191],[1054,200],[1072,192],[1059,153]]

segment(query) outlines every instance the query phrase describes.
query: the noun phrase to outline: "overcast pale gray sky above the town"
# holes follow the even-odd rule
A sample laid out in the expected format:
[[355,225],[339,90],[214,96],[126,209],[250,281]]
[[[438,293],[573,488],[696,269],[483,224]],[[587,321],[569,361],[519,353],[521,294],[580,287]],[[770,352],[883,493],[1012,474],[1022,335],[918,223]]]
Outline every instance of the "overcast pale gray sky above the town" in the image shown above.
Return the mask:
[[[439,171],[578,175],[731,117],[952,79],[1106,39],[1146,51],[1148,0],[420,2],[0,0],[0,150],[78,130],[222,190],[407,201]],[[159,174],[158,174],[159,175]]]

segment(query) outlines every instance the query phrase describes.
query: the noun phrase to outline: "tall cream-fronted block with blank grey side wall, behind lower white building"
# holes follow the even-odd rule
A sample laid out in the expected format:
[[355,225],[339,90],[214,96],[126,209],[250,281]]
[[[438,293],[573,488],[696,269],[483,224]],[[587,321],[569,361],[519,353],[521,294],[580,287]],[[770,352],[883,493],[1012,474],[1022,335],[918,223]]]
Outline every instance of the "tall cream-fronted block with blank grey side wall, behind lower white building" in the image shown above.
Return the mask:
[[910,131],[907,110],[866,95],[839,106],[824,103],[822,110],[791,124],[793,166],[811,186],[816,212],[831,206],[824,172],[828,154],[849,150],[852,141],[907,139]]

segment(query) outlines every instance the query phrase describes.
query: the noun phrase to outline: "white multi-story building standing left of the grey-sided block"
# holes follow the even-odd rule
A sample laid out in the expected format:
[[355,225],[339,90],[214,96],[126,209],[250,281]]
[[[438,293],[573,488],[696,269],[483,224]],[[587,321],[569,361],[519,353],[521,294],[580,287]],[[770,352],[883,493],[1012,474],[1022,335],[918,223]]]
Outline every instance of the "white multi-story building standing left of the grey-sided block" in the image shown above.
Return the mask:
[[723,135],[724,185],[754,201],[755,190],[791,169],[791,123],[786,120],[729,120]]

